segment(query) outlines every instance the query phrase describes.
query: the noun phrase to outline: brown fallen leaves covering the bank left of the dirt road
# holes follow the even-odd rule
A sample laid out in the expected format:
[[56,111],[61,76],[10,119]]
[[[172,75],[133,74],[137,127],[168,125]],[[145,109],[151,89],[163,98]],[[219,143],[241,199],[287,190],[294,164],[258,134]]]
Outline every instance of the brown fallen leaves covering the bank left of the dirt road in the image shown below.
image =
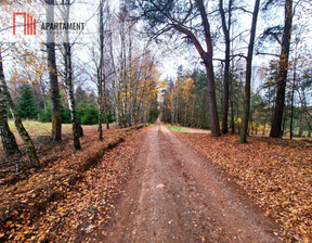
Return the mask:
[[84,133],[82,151],[74,152],[72,141],[63,141],[50,149],[51,155],[44,154],[49,163],[40,170],[3,186],[0,241],[88,242],[89,234],[109,220],[141,130],[105,130],[103,142],[98,141],[96,127]]

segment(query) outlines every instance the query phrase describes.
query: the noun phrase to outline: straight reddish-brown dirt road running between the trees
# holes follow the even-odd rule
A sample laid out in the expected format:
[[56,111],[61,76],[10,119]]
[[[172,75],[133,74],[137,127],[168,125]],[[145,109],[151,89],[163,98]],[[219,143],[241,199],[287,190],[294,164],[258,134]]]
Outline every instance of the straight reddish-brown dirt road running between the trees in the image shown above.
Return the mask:
[[229,178],[164,126],[148,130],[104,242],[280,242]]

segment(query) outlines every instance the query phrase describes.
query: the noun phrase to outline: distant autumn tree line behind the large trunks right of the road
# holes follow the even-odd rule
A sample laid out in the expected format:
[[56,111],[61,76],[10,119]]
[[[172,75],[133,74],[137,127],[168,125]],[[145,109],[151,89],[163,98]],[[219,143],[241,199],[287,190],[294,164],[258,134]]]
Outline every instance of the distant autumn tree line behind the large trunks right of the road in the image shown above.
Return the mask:
[[[239,65],[237,64],[237,66]],[[222,116],[224,97],[222,69],[219,68],[217,71],[219,71],[216,74],[217,108],[218,115]],[[258,91],[251,92],[248,126],[248,133],[250,136],[268,136],[270,132],[276,92],[276,63],[271,64],[271,68],[265,69],[262,85]],[[244,115],[244,82],[239,76],[240,74],[239,69],[235,73],[230,73],[229,128],[233,133],[240,132],[242,117]],[[178,78],[176,80],[167,80],[167,89],[164,90],[161,104],[162,120],[165,123],[210,129],[205,75],[200,69],[185,72],[180,66]],[[291,137],[311,138],[312,107],[306,105],[304,99],[299,99],[299,97],[306,98],[307,93],[311,92],[311,77],[312,74],[309,69],[306,69],[301,74],[301,77],[297,77],[295,90],[298,92],[298,100],[294,106],[291,106],[291,84],[288,82],[289,89],[286,93],[285,114],[282,126],[283,136],[290,136],[291,129]]]

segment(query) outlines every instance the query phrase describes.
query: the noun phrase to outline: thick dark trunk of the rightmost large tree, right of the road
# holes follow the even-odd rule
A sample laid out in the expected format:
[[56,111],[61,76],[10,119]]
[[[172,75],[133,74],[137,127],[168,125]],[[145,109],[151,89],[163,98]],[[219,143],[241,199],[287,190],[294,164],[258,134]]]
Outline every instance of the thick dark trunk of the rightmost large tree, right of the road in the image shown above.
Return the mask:
[[282,123],[283,123],[283,113],[284,113],[284,106],[285,106],[285,91],[286,91],[288,56],[289,56],[289,49],[290,49],[291,25],[292,25],[292,0],[286,0],[285,2],[285,22],[284,23],[285,23],[285,26],[284,26],[283,40],[282,40],[282,53],[280,57],[275,111],[274,111],[272,127],[271,127],[271,132],[270,132],[270,137],[272,138],[282,137]]

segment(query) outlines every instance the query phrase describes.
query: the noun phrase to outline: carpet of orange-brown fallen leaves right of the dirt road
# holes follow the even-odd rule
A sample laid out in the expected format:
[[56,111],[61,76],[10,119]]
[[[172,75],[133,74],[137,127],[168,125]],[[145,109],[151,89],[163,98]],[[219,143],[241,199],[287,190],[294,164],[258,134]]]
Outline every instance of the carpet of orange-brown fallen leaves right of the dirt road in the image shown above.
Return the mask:
[[225,170],[249,196],[282,223],[286,242],[312,241],[312,148],[303,142],[176,132]]

